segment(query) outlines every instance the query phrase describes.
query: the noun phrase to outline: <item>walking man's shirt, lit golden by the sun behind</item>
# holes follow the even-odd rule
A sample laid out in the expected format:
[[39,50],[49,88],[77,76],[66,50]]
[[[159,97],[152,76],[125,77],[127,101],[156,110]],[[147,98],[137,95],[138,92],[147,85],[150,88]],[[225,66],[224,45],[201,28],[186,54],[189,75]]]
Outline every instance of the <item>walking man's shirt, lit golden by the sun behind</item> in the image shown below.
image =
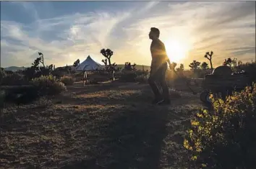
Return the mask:
[[168,60],[166,47],[161,40],[153,40],[150,45],[150,51],[152,56],[151,69],[159,68]]

